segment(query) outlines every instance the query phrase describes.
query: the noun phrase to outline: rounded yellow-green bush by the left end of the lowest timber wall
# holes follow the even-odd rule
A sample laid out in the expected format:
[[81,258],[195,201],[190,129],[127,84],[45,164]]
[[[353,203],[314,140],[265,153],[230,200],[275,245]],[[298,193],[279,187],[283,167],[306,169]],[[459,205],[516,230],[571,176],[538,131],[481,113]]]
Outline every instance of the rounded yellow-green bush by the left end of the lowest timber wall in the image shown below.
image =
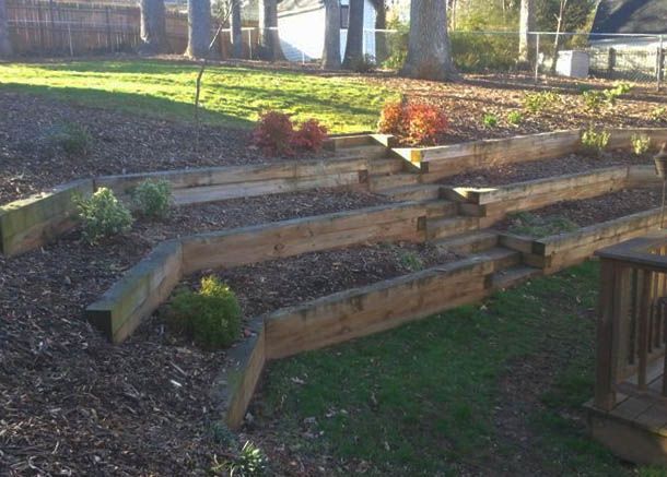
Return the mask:
[[204,348],[226,348],[241,335],[241,306],[236,295],[215,276],[201,278],[198,291],[176,293],[172,324]]

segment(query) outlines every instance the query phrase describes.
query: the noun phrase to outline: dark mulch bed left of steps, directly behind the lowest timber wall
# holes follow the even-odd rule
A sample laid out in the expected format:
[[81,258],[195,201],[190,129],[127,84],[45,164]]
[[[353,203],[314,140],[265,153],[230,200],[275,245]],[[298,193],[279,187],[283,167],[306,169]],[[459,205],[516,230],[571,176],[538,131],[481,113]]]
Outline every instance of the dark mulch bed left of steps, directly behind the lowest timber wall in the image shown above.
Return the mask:
[[[305,253],[214,272],[236,293],[253,318],[350,288],[459,259],[430,245],[367,245]],[[199,277],[189,285],[196,287]]]

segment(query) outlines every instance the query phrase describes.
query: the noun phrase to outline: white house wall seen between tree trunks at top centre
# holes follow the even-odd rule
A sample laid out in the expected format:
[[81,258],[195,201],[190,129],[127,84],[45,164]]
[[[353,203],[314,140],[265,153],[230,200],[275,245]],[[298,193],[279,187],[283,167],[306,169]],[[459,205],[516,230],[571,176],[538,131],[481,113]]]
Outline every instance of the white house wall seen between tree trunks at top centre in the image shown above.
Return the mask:
[[[348,37],[349,0],[340,2],[340,55],[344,56]],[[375,9],[364,0],[364,55],[375,57]],[[290,61],[321,58],[325,45],[325,5],[323,0],[282,0],[278,3],[278,31],[284,56]]]

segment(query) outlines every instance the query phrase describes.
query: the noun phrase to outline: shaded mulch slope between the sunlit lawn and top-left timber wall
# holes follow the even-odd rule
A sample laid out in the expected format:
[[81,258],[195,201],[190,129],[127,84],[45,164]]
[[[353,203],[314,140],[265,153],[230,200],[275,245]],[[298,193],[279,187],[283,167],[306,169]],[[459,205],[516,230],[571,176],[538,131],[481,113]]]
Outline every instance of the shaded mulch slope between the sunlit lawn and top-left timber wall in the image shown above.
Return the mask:
[[[92,176],[285,159],[264,156],[247,130],[202,126],[197,150],[187,123],[15,93],[0,93],[0,204]],[[85,154],[67,154],[52,142],[52,131],[71,123],[92,136]]]

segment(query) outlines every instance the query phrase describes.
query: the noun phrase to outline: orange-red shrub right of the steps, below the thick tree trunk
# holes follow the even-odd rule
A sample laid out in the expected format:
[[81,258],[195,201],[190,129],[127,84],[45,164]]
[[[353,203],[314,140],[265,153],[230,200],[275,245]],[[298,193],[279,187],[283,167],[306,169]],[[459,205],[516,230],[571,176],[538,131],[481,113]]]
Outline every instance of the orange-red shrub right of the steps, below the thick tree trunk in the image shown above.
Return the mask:
[[385,104],[377,124],[384,134],[394,134],[411,145],[434,144],[448,127],[444,111],[426,103],[390,102]]

